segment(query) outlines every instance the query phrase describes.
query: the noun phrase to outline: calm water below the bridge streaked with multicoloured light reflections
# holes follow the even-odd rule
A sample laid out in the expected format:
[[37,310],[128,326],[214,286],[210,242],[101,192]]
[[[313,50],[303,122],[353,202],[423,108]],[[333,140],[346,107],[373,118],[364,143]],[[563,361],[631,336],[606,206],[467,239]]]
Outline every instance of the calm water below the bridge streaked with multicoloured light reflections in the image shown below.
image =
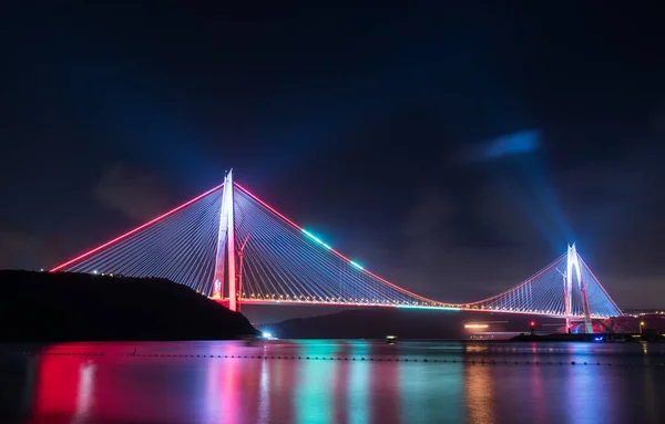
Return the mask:
[[38,350],[0,345],[0,422],[665,421],[656,344],[145,342],[11,353]]

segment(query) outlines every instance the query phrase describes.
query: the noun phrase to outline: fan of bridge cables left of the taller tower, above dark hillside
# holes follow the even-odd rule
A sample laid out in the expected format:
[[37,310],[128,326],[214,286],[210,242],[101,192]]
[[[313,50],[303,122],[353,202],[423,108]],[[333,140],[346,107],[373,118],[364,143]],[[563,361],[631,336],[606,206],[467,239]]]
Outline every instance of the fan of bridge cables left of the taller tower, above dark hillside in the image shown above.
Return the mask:
[[211,296],[222,188],[194,200],[53,270],[166,278]]

